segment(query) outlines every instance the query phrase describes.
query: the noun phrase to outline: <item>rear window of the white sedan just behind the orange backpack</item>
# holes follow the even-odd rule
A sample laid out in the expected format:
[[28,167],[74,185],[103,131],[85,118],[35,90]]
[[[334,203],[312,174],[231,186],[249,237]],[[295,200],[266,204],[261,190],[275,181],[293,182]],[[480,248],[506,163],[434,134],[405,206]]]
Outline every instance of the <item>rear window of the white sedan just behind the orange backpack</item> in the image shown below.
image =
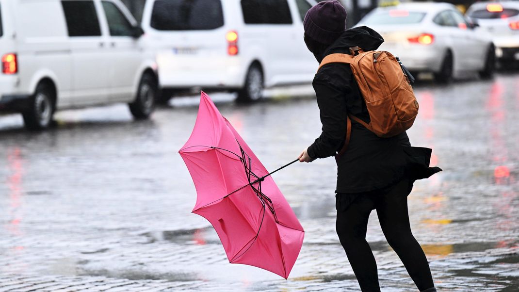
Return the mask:
[[425,12],[391,9],[372,13],[361,22],[364,24],[412,24],[421,22],[425,15]]

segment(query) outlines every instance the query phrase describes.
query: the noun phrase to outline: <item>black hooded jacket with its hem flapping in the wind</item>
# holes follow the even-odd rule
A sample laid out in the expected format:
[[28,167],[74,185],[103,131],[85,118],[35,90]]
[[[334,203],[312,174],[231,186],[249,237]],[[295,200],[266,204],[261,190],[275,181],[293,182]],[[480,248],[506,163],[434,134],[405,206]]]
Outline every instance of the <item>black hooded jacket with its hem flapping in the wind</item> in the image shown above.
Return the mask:
[[[321,62],[328,54],[349,54],[349,48],[354,46],[365,51],[376,50],[383,41],[374,30],[366,26],[356,27],[345,31],[324,54],[316,55],[316,58]],[[323,66],[313,79],[313,88],[320,109],[322,133],[308,147],[308,155],[311,158],[335,156],[344,145],[348,113],[366,122],[370,118],[348,64]],[[430,149],[410,146],[405,132],[391,138],[379,138],[353,121],[348,149],[344,155],[336,156],[336,192],[367,192],[396,183],[405,175],[418,179],[439,171],[428,169]]]

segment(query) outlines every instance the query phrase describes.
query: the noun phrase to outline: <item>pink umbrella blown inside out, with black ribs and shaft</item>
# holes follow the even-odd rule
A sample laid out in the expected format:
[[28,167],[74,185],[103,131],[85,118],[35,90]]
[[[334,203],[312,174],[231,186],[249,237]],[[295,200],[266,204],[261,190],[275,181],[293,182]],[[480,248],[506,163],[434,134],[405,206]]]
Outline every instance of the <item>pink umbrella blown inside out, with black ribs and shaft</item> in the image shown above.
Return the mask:
[[287,279],[303,227],[270,176],[275,171],[265,169],[204,92],[193,133],[179,152],[197,191],[193,213],[212,224],[229,262]]

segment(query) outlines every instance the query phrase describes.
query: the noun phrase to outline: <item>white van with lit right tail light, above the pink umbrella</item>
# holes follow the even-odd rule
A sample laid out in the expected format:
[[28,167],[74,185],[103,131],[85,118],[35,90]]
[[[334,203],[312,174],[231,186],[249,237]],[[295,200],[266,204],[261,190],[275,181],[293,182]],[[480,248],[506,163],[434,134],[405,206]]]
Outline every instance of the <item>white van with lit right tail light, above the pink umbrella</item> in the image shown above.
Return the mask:
[[312,0],[147,0],[142,27],[156,49],[162,101],[176,91],[237,91],[311,82],[317,62],[303,40]]

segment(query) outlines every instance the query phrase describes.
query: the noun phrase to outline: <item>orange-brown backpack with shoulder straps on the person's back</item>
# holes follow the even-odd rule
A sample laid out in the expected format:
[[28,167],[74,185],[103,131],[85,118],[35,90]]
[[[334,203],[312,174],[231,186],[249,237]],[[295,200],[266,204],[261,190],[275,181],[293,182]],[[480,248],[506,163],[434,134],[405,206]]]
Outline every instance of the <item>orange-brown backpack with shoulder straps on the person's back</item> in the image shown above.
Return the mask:
[[350,52],[351,55],[329,54],[319,65],[320,69],[330,63],[350,64],[370,115],[368,124],[348,114],[346,141],[339,156],[344,154],[350,141],[350,118],[377,136],[387,138],[411,128],[418,114],[418,102],[409,81],[413,77],[407,71],[404,74],[404,68],[397,58],[386,51],[364,52],[359,47],[350,48]]

